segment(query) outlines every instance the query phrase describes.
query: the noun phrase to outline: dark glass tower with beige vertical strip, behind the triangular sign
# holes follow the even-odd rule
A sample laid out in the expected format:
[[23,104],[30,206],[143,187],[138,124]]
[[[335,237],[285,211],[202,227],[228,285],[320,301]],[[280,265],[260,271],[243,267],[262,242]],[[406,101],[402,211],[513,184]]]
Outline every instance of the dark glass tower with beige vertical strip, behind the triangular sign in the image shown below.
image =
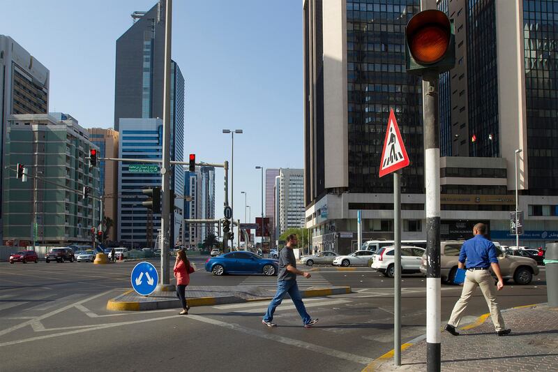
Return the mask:
[[303,1],[306,226],[322,250],[354,249],[359,209],[368,236],[393,236],[382,210],[393,181],[378,177],[390,109],[411,161],[402,218],[423,209],[422,84],[405,72],[405,26],[419,10],[418,0]]

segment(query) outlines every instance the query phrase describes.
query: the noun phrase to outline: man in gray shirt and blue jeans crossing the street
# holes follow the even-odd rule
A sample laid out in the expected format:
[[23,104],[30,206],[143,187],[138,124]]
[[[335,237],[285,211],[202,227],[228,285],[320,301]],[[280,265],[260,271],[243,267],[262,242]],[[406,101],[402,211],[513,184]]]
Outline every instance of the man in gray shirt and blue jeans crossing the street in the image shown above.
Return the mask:
[[289,294],[292,302],[294,302],[296,310],[299,311],[304,327],[312,327],[312,325],[315,325],[318,321],[317,319],[310,318],[310,315],[306,312],[306,307],[302,302],[301,292],[299,291],[299,285],[296,284],[297,275],[310,278],[309,272],[296,269],[296,259],[294,258],[292,248],[294,248],[294,246],[298,243],[299,241],[296,240],[296,235],[289,235],[287,237],[287,245],[282,248],[279,253],[277,293],[271,300],[271,304],[269,304],[266,315],[264,315],[264,319],[262,320],[262,323],[268,327],[277,327],[277,325],[273,323],[273,313],[275,313],[277,306],[281,304],[286,293]]

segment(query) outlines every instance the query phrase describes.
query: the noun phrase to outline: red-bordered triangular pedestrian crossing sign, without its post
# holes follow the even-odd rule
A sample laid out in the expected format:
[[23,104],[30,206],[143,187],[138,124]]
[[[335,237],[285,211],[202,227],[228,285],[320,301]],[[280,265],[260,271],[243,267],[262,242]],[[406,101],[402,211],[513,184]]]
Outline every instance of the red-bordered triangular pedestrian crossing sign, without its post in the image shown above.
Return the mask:
[[386,174],[409,165],[409,156],[407,155],[407,150],[405,150],[393,109],[389,111],[388,128],[380,159],[382,163],[379,165],[379,177],[384,177]]

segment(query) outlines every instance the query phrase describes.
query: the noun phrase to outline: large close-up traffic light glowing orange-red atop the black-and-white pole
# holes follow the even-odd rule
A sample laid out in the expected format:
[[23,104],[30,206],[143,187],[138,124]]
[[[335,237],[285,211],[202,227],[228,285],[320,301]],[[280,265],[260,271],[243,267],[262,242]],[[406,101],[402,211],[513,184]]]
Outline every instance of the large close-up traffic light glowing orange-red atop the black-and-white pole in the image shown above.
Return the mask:
[[440,10],[416,13],[405,29],[407,73],[437,77],[455,66],[453,20]]

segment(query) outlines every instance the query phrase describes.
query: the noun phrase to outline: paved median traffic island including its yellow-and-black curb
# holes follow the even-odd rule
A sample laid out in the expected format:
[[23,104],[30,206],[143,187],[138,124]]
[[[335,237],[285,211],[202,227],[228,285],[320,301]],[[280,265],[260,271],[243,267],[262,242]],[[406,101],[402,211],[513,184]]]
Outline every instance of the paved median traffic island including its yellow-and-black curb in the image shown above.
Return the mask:
[[[188,306],[212,306],[219,304],[234,304],[252,301],[269,301],[276,290],[269,290],[252,285],[231,286],[195,286],[186,288]],[[312,287],[301,290],[302,297],[319,297],[343,295],[351,293],[350,287]],[[113,311],[142,311],[158,310],[162,308],[180,308],[181,304],[176,292],[153,292],[148,297],[138,295],[135,290],[128,290],[122,295],[107,302],[107,310]]]

